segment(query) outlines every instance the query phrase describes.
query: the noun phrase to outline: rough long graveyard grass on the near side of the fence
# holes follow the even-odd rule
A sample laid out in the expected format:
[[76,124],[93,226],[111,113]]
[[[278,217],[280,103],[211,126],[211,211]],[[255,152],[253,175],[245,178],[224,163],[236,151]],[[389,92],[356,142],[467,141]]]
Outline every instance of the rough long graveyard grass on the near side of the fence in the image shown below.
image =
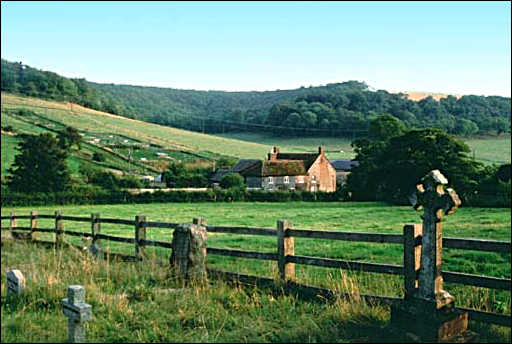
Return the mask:
[[[272,295],[265,289],[209,285],[181,289],[165,260],[96,262],[81,250],[56,252],[2,240],[2,342],[64,342],[67,319],[60,300],[66,286],[86,288],[93,319],[89,342],[393,342],[381,327],[389,310],[354,298],[333,303]],[[5,273],[20,269],[27,290],[6,299]],[[357,283],[343,275],[332,289]],[[471,323],[483,342],[510,342],[510,330]]]

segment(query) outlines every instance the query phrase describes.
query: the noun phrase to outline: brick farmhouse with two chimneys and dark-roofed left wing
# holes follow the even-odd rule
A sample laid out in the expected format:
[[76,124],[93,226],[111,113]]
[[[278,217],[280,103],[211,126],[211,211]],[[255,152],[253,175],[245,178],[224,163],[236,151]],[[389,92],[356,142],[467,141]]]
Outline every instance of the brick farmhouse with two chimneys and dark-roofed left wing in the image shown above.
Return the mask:
[[267,159],[243,159],[228,172],[240,174],[250,188],[336,191],[336,171],[323,147],[318,153],[280,153],[276,146]]

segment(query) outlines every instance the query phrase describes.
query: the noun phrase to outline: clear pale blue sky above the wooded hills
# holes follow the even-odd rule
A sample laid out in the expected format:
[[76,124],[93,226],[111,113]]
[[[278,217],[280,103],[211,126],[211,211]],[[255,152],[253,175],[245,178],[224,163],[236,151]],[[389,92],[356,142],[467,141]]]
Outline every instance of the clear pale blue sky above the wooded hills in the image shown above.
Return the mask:
[[359,80],[510,96],[510,3],[9,2],[1,55],[67,77],[200,90]]

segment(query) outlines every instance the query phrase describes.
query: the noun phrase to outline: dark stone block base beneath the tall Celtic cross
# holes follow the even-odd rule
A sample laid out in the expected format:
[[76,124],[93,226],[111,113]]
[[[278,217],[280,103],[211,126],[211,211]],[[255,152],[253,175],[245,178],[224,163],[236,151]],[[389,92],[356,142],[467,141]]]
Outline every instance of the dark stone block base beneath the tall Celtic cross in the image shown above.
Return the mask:
[[390,325],[405,341],[467,343],[477,337],[468,330],[468,313],[454,307],[432,311],[403,302],[391,306]]

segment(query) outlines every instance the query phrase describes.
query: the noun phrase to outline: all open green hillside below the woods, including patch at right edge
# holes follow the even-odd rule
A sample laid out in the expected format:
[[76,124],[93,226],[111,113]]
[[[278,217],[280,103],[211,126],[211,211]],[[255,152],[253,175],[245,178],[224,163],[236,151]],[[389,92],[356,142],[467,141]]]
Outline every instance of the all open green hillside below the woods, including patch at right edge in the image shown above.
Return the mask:
[[[20,115],[20,110],[28,110],[28,112]],[[2,93],[1,116],[2,127],[11,126],[17,134],[55,132],[68,125],[76,127],[84,134],[85,143],[80,151],[73,151],[69,158],[69,166],[74,174],[78,173],[84,161],[110,170],[155,174],[165,167],[166,163],[173,160],[208,160],[221,156],[263,158],[271,147],[276,145],[280,146],[282,151],[288,152],[314,152],[319,145],[323,145],[330,159],[355,156],[350,146],[350,139],[343,137],[299,139],[255,133],[227,133],[213,136],[127,119],[76,104],[8,93]],[[87,143],[95,139],[99,142]],[[15,134],[2,131],[2,175],[5,175],[14,161],[18,141]],[[484,163],[510,162],[510,135],[464,141],[473,149],[477,160]],[[114,148],[110,148],[112,146]],[[104,154],[106,160],[102,163],[92,161],[94,152]],[[168,158],[156,157],[157,152],[166,153]],[[129,154],[134,159],[132,163],[126,161]],[[143,162],[141,159],[147,159],[148,162]]]

